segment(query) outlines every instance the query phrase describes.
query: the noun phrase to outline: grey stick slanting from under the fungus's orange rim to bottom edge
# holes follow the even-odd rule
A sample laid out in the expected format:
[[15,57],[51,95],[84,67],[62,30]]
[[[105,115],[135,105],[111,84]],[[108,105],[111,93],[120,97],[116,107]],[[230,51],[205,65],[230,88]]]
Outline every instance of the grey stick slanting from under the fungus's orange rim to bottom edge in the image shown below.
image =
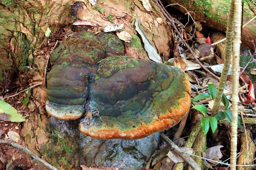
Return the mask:
[[188,157],[186,154],[184,154],[181,151],[181,149],[175,143],[173,143],[167,136],[161,134],[160,137],[164,140],[164,142],[169,146],[169,148],[172,151],[174,151],[177,155],[183,158],[193,169],[201,169],[191,157]]

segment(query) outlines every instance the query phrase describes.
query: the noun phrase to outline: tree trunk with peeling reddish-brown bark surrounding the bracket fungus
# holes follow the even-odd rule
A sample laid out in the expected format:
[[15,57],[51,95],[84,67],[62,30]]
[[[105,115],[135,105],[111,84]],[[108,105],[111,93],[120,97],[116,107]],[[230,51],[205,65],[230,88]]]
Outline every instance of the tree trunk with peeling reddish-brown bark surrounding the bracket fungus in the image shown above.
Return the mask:
[[[156,21],[156,18],[162,17],[162,14],[152,1],[150,1],[152,7],[147,9],[137,0],[99,0],[94,7],[87,1],[74,4],[75,2],[74,0],[1,1],[0,39],[3,41],[0,43],[0,86],[5,97],[11,95],[6,93],[6,90],[16,84],[20,88],[25,88],[32,83],[44,82],[45,57],[51,50],[51,42],[55,44],[57,39],[61,40],[62,38],[57,35],[68,29],[83,28],[83,30],[100,32],[110,24],[124,24],[124,31],[133,37],[130,43],[124,43],[126,55],[147,58],[140,37],[133,27],[133,19],[137,17],[159,55],[163,60],[169,58],[172,45],[169,26],[166,22]],[[75,20],[87,20],[94,26],[71,26]],[[52,35],[45,37],[44,33],[48,27]],[[15,79],[12,80],[14,75]],[[12,83],[7,83],[10,82],[7,78],[12,80]],[[1,122],[0,134],[7,134],[10,130],[18,132],[21,137],[20,144],[58,169],[79,169],[80,165],[138,169],[143,167],[158,148],[158,133],[132,141],[95,140],[84,136],[78,131],[76,120],[60,121],[46,114],[47,97],[43,85],[31,91],[28,107],[21,102],[24,98],[23,94],[7,100],[28,117],[21,126],[17,123]],[[16,90],[13,91],[15,92]],[[19,129],[15,129],[15,126]],[[25,153],[11,147],[1,147],[0,153],[3,158],[0,161],[0,169],[5,169],[11,159],[13,166],[45,169],[42,165],[34,164]],[[12,157],[14,153],[15,157]]]

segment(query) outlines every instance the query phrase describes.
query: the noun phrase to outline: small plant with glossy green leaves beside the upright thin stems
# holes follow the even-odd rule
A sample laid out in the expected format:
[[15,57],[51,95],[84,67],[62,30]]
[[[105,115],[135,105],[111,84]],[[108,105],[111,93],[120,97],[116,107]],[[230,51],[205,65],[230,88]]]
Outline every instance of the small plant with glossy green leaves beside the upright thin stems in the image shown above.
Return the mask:
[[[201,93],[197,95],[196,97],[193,98],[191,103],[194,103],[198,100],[206,99],[206,98],[211,98],[212,100],[215,99],[216,93],[217,93],[217,88],[214,84],[207,84],[208,89],[209,89],[209,94],[208,93]],[[192,109],[196,109],[199,112],[204,113],[204,117],[201,119],[201,126],[203,128],[203,135],[206,135],[207,132],[210,129],[212,129],[212,132],[214,133],[217,129],[218,126],[218,121],[223,120],[227,118],[228,122],[231,124],[231,118],[232,118],[232,111],[227,110],[228,105],[229,105],[229,100],[226,95],[222,94],[222,102],[224,104],[224,109],[223,111],[217,113],[215,116],[208,116],[207,115],[207,107],[205,107],[202,104],[197,104],[192,107]],[[241,117],[238,116],[238,127],[241,128]]]

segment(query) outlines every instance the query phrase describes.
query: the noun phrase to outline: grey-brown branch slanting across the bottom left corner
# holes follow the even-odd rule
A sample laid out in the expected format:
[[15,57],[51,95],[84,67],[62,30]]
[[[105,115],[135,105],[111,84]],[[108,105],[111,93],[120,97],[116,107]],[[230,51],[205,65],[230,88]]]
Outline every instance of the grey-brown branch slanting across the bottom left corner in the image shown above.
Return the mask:
[[17,143],[14,143],[14,142],[10,142],[10,141],[7,141],[7,140],[0,140],[0,144],[9,144],[11,145],[12,147],[14,148],[18,148],[20,149],[21,151],[25,152],[26,154],[28,154],[29,156],[31,156],[33,159],[34,162],[37,162],[37,163],[41,163],[43,164],[45,167],[49,168],[49,169],[52,169],[52,170],[58,170],[57,168],[55,168],[54,166],[52,166],[51,164],[49,164],[48,162],[46,162],[45,160],[39,158],[38,156],[36,156],[34,153],[32,153],[28,148],[20,145],[20,144],[17,144]]

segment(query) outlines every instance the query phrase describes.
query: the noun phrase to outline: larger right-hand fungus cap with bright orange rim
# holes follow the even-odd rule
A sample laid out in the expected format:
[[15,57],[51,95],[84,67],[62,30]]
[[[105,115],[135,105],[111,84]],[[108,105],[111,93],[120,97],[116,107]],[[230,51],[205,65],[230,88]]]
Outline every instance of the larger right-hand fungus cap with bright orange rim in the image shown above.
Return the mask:
[[176,125],[190,108],[190,83],[178,67],[114,56],[94,80],[79,124],[92,138],[144,138]]

